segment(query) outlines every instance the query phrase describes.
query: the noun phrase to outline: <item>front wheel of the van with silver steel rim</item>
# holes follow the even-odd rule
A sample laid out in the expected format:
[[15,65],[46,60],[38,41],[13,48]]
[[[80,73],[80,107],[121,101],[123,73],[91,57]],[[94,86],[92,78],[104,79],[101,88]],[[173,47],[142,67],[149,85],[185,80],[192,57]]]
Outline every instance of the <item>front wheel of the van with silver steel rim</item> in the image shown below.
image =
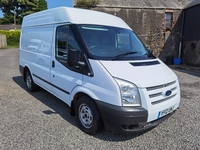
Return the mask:
[[81,97],[76,103],[76,119],[79,128],[87,134],[94,134],[102,127],[97,106],[88,97]]

